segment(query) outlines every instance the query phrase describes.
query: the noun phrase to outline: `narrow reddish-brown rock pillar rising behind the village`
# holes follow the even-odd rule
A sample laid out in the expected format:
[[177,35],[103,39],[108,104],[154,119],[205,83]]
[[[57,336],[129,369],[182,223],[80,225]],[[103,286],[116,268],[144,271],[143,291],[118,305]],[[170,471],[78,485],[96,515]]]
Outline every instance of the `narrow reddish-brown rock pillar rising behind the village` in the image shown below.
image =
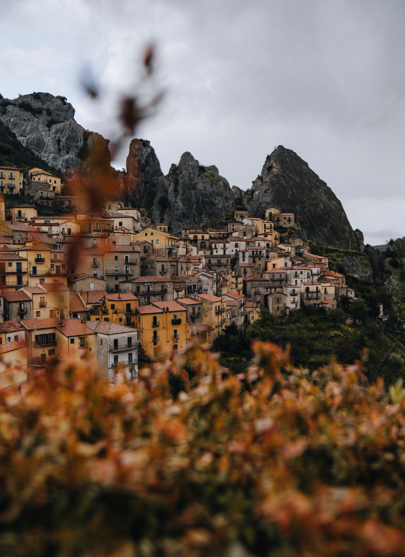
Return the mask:
[[149,211],[154,203],[163,175],[159,159],[150,141],[133,139],[126,158],[124,197],[133,207]]

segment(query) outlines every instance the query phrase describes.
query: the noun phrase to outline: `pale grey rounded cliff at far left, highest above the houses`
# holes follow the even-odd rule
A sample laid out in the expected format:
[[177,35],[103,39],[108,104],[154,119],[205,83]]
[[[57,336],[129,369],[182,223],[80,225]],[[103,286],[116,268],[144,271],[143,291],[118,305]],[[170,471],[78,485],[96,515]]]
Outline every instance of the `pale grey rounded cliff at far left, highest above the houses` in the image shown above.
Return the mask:
[[53,168],[64,173],[80,164],[84,146],[75,109],[65,97],[32,93],[18,99],[0,100],[0,120],[25,147]]

